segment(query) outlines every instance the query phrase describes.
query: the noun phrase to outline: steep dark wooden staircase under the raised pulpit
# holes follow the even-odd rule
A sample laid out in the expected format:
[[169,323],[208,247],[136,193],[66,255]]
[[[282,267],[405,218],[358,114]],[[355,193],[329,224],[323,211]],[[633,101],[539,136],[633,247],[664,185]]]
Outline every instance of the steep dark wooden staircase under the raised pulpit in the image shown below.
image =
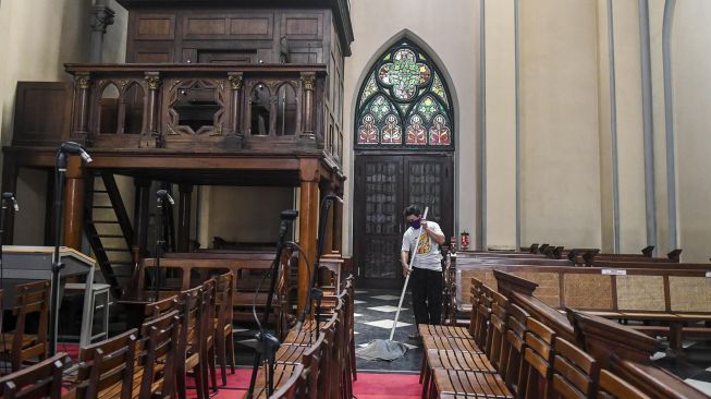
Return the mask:
[[113,174],[95,172],[87,179],[84,228],[101,273],[114,298],[121,298],[134,262],[133,228]]

